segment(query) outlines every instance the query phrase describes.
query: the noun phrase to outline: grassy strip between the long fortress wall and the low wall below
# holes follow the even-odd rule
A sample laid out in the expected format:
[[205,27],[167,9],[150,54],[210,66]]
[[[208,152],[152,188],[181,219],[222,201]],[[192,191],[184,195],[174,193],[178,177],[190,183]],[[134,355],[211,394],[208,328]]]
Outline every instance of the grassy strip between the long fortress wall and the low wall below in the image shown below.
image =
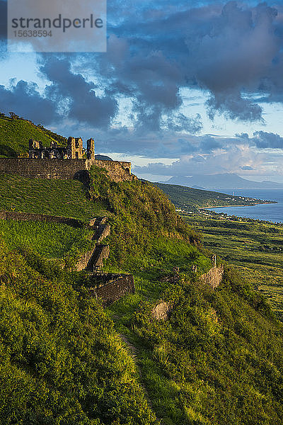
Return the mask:
[[105,215],[107,204],[89,200],[86,186],[76,180],[25,179],[0,176],[0,210],[74,217],[87,221]]

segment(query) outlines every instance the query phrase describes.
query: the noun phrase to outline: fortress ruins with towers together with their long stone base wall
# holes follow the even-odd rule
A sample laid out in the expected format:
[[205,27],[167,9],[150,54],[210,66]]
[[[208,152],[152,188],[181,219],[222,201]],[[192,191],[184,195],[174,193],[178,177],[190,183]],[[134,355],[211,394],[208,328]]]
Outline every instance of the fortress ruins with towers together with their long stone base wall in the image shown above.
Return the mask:
[[30,139],[28,158],[0,158],[0,174],[16,174],[32,179],[78,179],[89,180],[91,166],[108,171],[113,181],[132,181],[137,177],[131,173],[131,163],[96,159],[95,142],[88,139],[86,150],[81,137],[69,137],[67,147],[51,142],[44,147],[39,140]]

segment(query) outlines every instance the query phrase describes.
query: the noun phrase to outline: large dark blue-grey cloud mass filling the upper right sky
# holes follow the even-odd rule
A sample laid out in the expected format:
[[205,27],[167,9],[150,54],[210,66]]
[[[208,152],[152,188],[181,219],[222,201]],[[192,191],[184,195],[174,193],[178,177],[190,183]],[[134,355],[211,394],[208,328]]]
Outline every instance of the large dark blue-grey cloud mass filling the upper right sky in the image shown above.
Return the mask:
[[[245,94],[262,91],[265,101],[283,97],[283,25],[266,3],[224,6],[204,2],[132,11],[110,26],[103,70],[112,91],[136,96],[139,123],[157,128],[160,115],[180,105],[180,87],[207,89],[209,117],[221,113],[243,121],[262,120],[262,108]],[[115,34],[115,35],[113,35]],[[154,48],[153,48],[154,47]],[[153,125],[155,123],[155,126]]]

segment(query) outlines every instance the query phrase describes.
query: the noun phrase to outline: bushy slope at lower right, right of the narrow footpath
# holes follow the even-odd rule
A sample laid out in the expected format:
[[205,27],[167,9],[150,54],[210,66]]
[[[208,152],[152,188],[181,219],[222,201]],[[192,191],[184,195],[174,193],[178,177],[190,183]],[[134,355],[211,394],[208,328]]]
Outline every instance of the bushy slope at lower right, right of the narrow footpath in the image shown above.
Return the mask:
[[282,424],[282,324],[265,300],[228,269],[216,291],[184,278],[163,298],[168,321],[146,302],[126,324],[163,423]]

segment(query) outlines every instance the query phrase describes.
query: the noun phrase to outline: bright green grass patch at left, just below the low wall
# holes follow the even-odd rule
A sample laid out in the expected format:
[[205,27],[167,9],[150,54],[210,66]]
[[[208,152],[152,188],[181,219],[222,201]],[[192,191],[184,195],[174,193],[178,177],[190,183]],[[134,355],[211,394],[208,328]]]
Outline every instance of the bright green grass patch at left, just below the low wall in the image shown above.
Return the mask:
[[0,237],[9,249],[24,247],[46,258],[60,259],[75,247],[83,251],[90,235],[89,230],[57,223],[0,220]]

